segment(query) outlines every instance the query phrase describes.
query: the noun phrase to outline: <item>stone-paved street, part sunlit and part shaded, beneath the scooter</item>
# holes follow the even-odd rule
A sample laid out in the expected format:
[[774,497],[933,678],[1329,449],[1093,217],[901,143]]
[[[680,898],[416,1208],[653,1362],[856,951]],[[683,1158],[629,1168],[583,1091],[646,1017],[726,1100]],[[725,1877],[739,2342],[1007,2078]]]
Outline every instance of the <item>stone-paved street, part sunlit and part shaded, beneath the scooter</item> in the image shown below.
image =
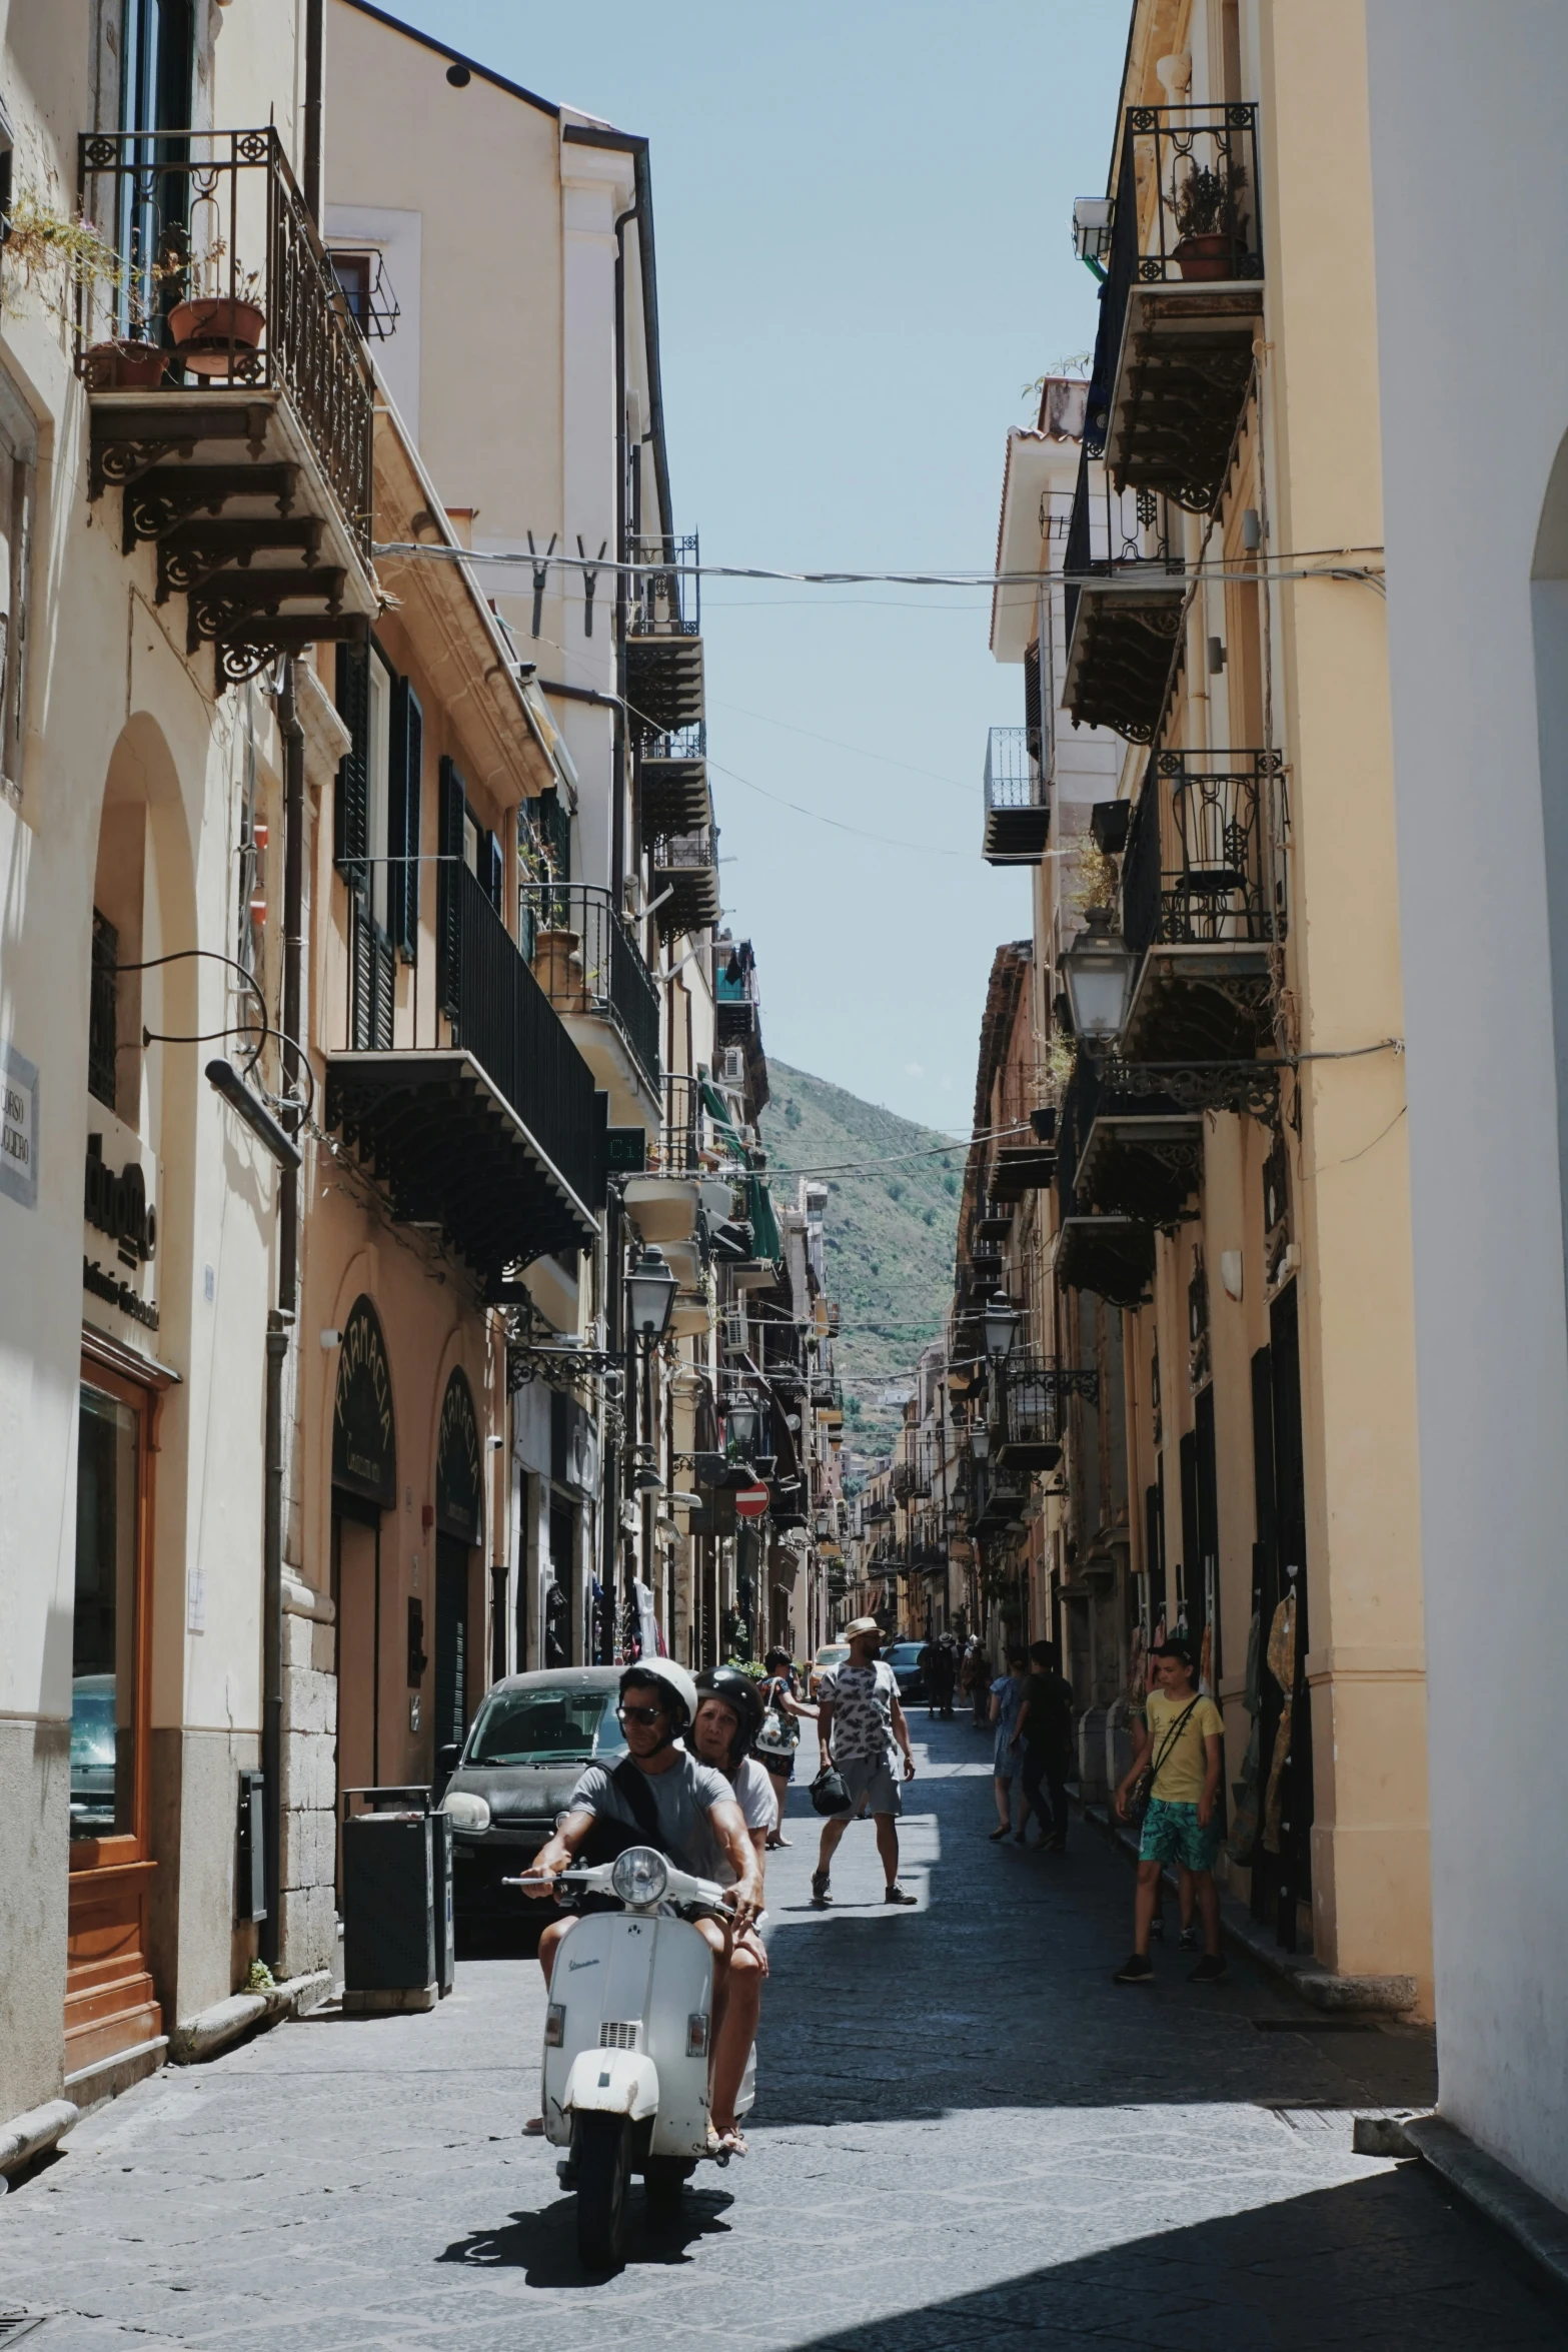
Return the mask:
[[489,1959],[430,2018],[329,2011],[92,2117],[0,2204],[0,2310],[59,2314],[28,2352],[1568,2345],[1505,2241],[1352,2154],[1354,2105],[1429,2096],[1425,2037],[1258,2030],[1307,2020],[1175,1952],[1112,1987],[1126,1863],[990,1846],[964,1724],[931,1726],[907,1804],[919,1910],[884,1910],[870,1830],[830,1915],[809,1820],[773,1856],[752,2157],[672,2225],[635,2192],[618,2279],[578,2272],[555,2154],[520,2138],[538,1971]]

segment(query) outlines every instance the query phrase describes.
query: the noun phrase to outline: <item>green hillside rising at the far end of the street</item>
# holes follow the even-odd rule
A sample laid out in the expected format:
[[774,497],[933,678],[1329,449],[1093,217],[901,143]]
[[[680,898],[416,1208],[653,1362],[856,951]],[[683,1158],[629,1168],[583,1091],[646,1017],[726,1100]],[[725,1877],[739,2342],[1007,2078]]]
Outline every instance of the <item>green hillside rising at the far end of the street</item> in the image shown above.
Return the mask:
[[964,1148],[773,1056],[769,1087],[762,1143],[776,1200],[795,1200],[797,1174],[865,1169],[818,1181],[827,1185],[827,1291],[842,1308],[835,1364],[844,1383],[844,1439],[856,1451],[882,1451],[900,1416],[879,1395],[907,1381],[922,1345],[943,1329]]

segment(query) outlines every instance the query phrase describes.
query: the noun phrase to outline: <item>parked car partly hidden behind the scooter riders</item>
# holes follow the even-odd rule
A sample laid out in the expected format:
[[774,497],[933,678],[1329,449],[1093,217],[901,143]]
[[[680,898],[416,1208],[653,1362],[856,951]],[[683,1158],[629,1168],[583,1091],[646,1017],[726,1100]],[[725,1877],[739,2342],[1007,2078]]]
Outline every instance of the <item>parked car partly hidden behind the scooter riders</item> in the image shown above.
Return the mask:
[[[463,1922],[538,1919],[541,1905],[501,1884],[517,1877],[555,1830],[585,1764],[618,1764],[616,1722],[623,1668],[576,1665],[508,1675],[484,1698],[463,1752],[442,1750],[447,1792],[473,1790],[489,1804],[489,1830],[458,1830],[451,1846],[451,1900]],[[543,1917],[550,1917],[545,1910]]]

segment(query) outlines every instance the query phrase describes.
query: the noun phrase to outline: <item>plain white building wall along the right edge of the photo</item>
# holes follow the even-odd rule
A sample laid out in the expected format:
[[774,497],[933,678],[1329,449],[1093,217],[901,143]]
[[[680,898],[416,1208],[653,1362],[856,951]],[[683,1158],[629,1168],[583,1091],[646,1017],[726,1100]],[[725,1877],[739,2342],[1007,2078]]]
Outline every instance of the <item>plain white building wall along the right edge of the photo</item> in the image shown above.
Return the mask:
[[[1554,1018],[1549,936],[1556,898],[1561,967],[1568,588],[1533,595],[1568,430],[1568,14],[1368,0],[1368,49],[1439,2084],[1455,2124],[1568,2204],[1568,1002],[1559,985]],[[1540,555],[1561,581],[1559,536]]]

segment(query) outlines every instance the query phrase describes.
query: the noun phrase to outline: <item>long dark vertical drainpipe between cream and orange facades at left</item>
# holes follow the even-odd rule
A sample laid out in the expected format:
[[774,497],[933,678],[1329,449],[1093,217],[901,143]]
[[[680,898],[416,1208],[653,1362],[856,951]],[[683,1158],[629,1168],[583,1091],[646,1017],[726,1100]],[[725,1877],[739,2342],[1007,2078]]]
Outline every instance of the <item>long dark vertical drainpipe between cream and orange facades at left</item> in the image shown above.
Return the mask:
[[[303,811],[306,811],[306,729],[294,699],[294,661],[284,663],[277,696],[282,729],[282,1084],[299,1089],[299,993],[301,993],[301,906],[303,906]],[[284,1112],[289,1134],[299,1131],[299,1112]],[[273,1966],[282,1950],[282,1369],[289,1357],[299,1308],[299,1171],[277,1178],[277,1305],[266,1327],[266,1515],[261,1541],[261,1773],[266,1806],[266,1922],[261,1957]]]

